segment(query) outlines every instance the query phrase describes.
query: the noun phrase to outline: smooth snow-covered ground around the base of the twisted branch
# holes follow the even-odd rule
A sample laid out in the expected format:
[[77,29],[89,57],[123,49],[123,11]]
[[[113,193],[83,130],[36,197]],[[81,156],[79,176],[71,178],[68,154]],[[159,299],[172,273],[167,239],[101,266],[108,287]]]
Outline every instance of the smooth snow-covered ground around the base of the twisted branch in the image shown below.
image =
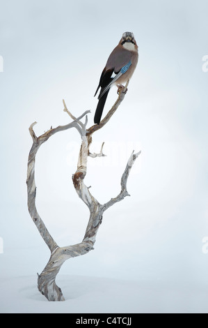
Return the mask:
[[47,301],[36,276],[1,280],[0,313],[206,313],[208,307],[202,286],[70,275],[58,276],[57,284],[63,302]]

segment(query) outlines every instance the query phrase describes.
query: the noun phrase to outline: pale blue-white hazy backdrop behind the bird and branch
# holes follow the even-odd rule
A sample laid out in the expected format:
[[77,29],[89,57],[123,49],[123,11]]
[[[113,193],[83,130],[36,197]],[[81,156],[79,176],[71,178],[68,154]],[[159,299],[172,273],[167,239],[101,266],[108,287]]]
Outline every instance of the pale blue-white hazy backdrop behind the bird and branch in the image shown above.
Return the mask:
[[[1,1],[1,281],[35,277],[49,259],[26,204],[30,124],[38,121],[40,135],[70,122],[64,98],[74,116],[91,110],[91,126],[102,69],[122,33],[133,31],[138,66],[125,100],[93,135],[91,151],[104,141],[107,156],[89,158],[85,180],[100,203],[108,201],[120,192],[131,151],[141,150],[127,185],[131,197],[104,213],[95,250],[65,262],[60,274],[145,281],[158,290],[187,285],[195,300],[207,290],[207,10],[202,0]],[[114,87],[104,113],[116,98]],[[71,179],[79,144],[75,129],[58,133],[36,159],[38,212],[59,246],[81,241],[88,222]],[[145,310],[157,311],[148,302]]]

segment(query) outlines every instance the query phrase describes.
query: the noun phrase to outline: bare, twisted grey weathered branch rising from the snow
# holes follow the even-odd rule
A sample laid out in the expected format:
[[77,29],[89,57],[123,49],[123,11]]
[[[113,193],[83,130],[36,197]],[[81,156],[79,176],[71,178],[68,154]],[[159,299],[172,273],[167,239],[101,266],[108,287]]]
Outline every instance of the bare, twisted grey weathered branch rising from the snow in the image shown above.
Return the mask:
[[[56,285],[56,275],[61,269],[61,265],[63,264],[63,262],[65,262],[65,260],[68,260],[69,258],[84,255],[94,249],[93,246],[95,244],[97,230],[99,229],[99,225],[102,223],[102,216],[104,214],[104,211],[106,211],[106,209],[115,204],[115,202],[119,202],[120,200],[124,199],[124,197],[129,195],[127,193],[127,179],[129,177],[131,167],[134,164],[134,161],[136,160],[138,154],[140,153],[134,154],[133,152],[131,154],[125,171],[122,174],[120,194],[115,198],[111,198],[111,200],[109,200],[109,202],[106,202],[106,204],[99,204],[95,197],[93,197],[93,195],[90,193],[89,187],[84,184],[84,178],[87,172],[88,156],[104,156],[102,152],[104,143],[102,144],[102,148],[99,154],[90,153],[89,147],[92,142],[92,134],[95,131],[98,131],[99,128],[102,128],[109,121],[115,110],[118,108],[118,106],[124,99],[126,91],[126,89],[122,89],[115,104],[113,105],[109,113],[106,115],[106,117],[104,117],[104,119],[100,122],[99,126],[94,125],[86,129],[86,125],[88,123],[87,114],[90,111],[86,111],[80,117],[76,118],[70,113],[69,110],[67,110],[65,102],[63,100],[64,111],[67,112],[67,114],[69,114],[70,117],[73,119],[70,124],[67,124],[65,126],[58,126],[57,128],[51,128],[46,133],[40,135],[40,137],[37,137],[35,135],[35,132],[33,131],[33,126],[36,124],[36,122],[31,124],[31,126],[29,127],[29,132],[33,139],[33,145],[31,147],[31,151],[29,152],[28,171],[26,179],[28,192],[28,208],[29,214],[31,215],[33,222],[35,223],[36,227],[38,228],[38,231],[40,232],[42,238],[44,239],[45,243],[49,247],[49,250],[51,251],[49,262],[47,262],[47,265],[45,269],[43,269],[42,273],[40,275],[38,274],[38,290],[40,290],[42,295],[45,295],[45,297],[49,301],[64,301],[61,288]],[[86,117],[86,121],[84,124],[81,122],[81,119],[83,117]],[[40,218],[35,206],[35,156],[41,144],[46,142],[49,137],[51,137],[51,135],[54,135],[55,133],[60,131],[65,131],[69,128],[77,128],[77,131],[79,131],[79,134],[81,135],[81,147],[79,151],[77,171],[72,176],[72,181],[74,184],[74,188],[77,191],[77,195],[79,195],[81,200],[87,205],[90,211],[90,217],[83,240],[79,244],[59,247],[56,244],[56,241],[54,241],[54,239],[51,237],[51,234],[49,234],[49,231],[47,230],[45,224]]]

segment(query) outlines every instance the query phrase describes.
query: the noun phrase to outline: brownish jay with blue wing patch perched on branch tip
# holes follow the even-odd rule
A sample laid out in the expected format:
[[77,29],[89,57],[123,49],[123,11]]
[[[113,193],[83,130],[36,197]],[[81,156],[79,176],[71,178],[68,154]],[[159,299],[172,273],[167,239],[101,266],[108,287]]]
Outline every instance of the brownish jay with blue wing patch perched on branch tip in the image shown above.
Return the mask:
[[99,87],[101,87],[98,96],[99,102],[94,117],[95,124],[99,124],[100,122],[106,98],[112,85],[115,84],[118,87],[118,90],[123,88],[124,86],[122,83],[127,82],[127,80],[131,78],[137,62],[138,46],[134,39],[134,34],[131,32],[125,32],[123,33],[117,47],[115,47],[109,56],[95,92],[96,96]]

